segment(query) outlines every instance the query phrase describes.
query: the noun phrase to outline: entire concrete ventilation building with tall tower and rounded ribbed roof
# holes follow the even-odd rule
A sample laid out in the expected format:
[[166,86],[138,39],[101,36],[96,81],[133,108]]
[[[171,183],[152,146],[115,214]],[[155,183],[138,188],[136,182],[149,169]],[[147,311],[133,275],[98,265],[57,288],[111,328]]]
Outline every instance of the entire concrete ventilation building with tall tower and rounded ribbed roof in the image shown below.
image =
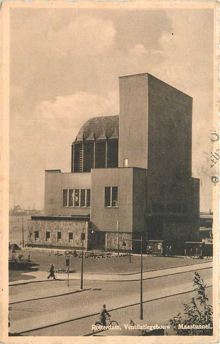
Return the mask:
[[193,99],[148,73],[120,77],[119,86],[120,115],[82,126],[70,173],[46,171],[45,216],[30,221],[31,245],[77,249],[83,231],[86,249],[124,250],[124,239],[143,235],[180,253],[198,239]]

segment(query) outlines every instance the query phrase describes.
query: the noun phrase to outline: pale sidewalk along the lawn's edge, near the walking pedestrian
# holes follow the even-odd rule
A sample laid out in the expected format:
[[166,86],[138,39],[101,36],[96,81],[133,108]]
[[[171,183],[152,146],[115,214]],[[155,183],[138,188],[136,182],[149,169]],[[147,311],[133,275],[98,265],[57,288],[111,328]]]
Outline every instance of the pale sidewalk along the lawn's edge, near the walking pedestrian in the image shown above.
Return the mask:
[[[207,261],[204,263],[197,263],[194,265],[184,265],[178,267],[171,267],[167,269],[161,270],[154,270],[154,271],[147,271],[143,272],[143,280],[147,280],[150,278],[174,275],[182,272],[194,271],[194,270],[201,270],[207,269],[212,267],[212,261]],[[47,271],[33,271],[33,272],[26,272],[24,275],[34,276],[35,279],[32,280],[21,280],[21,281],[13,281],[9,282],[9,286],[16,286],[20,284],[28,284],[28,283],[36,283],[36,282],[46,282],[48,281]],[[69,274],[70,280],[80,280],[81,274],[79,273],[72,273]],[[56,273],[57,280],[67,280],[67,274],[58,274]],[[84,281],[112,281],[112,282],[120,282],[120,281],[139,281],[140,280],[140,273],[134,273],[130,275],[117,275],[117,274],[93,274],[93,273],[84,273],[83,274]]]

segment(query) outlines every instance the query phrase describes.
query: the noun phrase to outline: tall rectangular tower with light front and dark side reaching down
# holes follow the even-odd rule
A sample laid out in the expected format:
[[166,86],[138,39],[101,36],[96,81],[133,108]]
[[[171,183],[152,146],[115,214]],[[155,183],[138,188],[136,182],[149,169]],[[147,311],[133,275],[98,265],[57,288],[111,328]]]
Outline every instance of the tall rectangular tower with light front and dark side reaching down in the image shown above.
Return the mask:
[[193,99],[148,73],[120,77],[119,85],[119,167],[146,169],[147,233],[165,239],[172,224],[185,240],[199,215],[199,180],[193,190],[192,179]]

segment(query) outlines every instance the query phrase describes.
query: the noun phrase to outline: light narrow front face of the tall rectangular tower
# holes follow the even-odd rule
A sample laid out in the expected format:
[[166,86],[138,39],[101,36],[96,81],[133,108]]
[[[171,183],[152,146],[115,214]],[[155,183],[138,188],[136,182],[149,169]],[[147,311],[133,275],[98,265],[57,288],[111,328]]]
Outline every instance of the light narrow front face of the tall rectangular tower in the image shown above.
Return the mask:
[[147,169],[148,76],[119,78],[119,167]]

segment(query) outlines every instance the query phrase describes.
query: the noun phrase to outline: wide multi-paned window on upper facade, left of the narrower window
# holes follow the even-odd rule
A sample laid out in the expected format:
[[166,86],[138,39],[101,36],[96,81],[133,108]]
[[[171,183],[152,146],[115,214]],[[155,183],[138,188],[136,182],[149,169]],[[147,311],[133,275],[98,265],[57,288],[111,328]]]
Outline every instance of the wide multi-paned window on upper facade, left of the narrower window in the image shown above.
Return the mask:
[[63,190],[63,207],[90,207],[90,189]]

